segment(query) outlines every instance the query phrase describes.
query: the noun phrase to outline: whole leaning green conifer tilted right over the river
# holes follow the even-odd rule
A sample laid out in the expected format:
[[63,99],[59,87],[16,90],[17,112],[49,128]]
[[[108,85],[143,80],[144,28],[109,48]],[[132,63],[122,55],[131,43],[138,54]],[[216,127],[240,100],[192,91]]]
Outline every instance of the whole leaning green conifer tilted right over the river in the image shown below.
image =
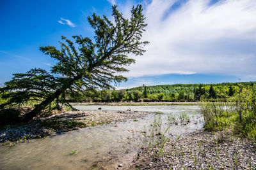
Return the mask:
[[[51,73],[43,69],[31,69],[27,73],[13,74],[11,81],[0,89],[6,102],[0,109],[19,106],[24,103],[36,103],[24,121],[29,122],[42,113],[42,110],[60,104],[72,106],[67,94],[81,94],[84,89],[113,89],[112,83],[127,80],[120,73],[128,71],[125,67],[135,60],[128,57],[142,55],[147,41],[141,37],[145,31],[145,17],[141,5],[132,7],[131,18],[122,16],[116,6],[113,20],[93,13],[88,22],[95,30],[94,39],[73,36],[74,41],[62,36],[61,49],[55,46],[41,46],[40,50],[56,59]],[[54,103],[54,104],[52,104]]]

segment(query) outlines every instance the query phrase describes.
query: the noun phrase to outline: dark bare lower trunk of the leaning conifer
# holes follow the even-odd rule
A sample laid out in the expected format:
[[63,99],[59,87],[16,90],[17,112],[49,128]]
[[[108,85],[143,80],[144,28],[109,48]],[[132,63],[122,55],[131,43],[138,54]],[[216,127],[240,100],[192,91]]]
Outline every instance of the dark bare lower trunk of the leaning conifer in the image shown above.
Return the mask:
[[75,80],[77,80],[77,78],[76,79],[74,78],[74,79],[68,81],[67,84],[63,85],[63,87],[56,90],[56,92],[54,92],[54,94],[47,97],[42,103],[38,104],[32,111],[30,111],[29,113],[24,115],[23,121],[30,122],[31,120],[33,120],[33,118],[36,117],[42,110],[44,110],[46,106],[51,104],[52,101],[54,101],[54,99],[57,99],[66,89],[68,89],[68,87],[70,87],[74,83]]

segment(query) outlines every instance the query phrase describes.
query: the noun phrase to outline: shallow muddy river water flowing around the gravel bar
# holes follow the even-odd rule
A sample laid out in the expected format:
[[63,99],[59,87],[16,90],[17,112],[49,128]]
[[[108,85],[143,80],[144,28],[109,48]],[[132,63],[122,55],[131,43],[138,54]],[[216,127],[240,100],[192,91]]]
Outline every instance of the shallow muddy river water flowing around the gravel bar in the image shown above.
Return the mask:
[[[201,129],[203,122],[198,116],[198,106],[100,106],[102,110],[131,109],[134,111],[161,111],[164,126],[170,126],[170,138]],[[76,106],[79,110],[98,110],[99,106]],[[186,112],[193,115],[197,124],[168,124],[167,115]],[[197,115],[197,116],[196,116]],[[134,153],[141,146],[141,134],[155,114],[136,120],[100,125],[77,131],[56,134],[51,138],[33,139],[12,148],[0,148],[0,169],[90,169],[98,164],[104,166],[109,160]],[[200,120],[200,121],[199,121]],[[71,154],[76,150],[77,153]],[[122,162],[120,162],[122,164]],[[117,165],[116,165],[117,166]]]

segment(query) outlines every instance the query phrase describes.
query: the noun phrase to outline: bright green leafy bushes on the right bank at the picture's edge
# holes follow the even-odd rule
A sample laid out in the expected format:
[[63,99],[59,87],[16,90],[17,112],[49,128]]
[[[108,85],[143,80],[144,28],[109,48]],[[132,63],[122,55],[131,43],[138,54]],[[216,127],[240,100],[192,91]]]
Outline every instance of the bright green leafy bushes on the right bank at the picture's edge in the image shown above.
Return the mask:
[[256,140],[256,87],[240,87],[230,103],[202,103],[205,129],[232,127],[246,138]]

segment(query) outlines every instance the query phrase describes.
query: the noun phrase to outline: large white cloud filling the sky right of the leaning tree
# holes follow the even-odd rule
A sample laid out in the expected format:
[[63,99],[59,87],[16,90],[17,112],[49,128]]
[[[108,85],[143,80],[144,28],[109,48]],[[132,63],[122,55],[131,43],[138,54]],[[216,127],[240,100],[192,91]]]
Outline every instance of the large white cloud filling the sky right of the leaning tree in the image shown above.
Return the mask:
[[256,1],[174,0],[145,3],[147,52],[125,76],[226,74],[256,76]]

